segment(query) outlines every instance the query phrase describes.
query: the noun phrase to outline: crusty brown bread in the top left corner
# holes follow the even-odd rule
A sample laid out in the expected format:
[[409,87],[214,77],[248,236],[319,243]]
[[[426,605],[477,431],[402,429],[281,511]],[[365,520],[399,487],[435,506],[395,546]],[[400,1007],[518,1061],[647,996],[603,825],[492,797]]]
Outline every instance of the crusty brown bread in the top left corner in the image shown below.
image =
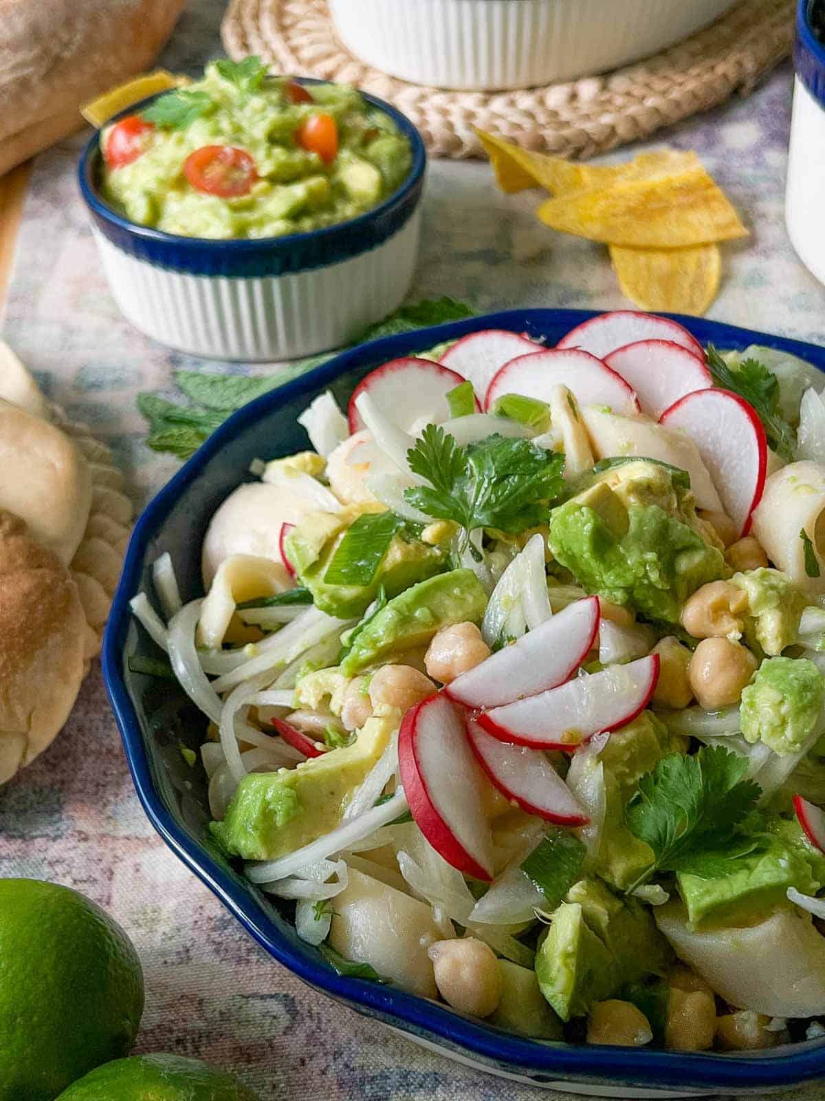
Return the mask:
[[184,0],[0,0],[0,175],[84,124],[81,103],[141,73]]

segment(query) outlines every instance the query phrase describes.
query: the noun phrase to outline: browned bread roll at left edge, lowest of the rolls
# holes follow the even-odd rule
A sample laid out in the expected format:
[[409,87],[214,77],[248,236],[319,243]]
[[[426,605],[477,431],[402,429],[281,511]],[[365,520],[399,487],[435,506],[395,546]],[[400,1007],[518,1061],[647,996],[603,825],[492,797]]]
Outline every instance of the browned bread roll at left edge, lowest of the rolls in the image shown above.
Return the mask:
[[0,784],[58,733],[84,677],[87,631],[66,566],[0,511]]

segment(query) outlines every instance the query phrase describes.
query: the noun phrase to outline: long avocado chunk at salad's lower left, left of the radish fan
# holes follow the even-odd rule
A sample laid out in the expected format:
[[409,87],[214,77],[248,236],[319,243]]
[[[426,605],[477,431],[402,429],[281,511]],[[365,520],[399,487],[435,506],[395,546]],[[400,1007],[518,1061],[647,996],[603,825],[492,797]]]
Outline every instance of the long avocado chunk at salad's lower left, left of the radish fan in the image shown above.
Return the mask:
[[213,836],[233,857],[274,860],[329,833],[386,749],[398,719],[395,710],[374,716],[352,745],[310,757],[295,768],[248,773],[223,821],[210,824]]

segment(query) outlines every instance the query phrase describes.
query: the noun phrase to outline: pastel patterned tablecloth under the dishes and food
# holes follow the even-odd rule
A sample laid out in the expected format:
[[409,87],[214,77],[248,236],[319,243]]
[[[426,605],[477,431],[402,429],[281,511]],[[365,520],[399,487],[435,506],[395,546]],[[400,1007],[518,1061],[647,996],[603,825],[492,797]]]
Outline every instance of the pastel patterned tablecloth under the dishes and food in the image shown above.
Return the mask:
[[[193,0],[164,64],[194,69],[217,54],[221,8],[221,0]],[[750,240],[724,249],[725,282],[711,316],[822,341],[825,288],[796,260],[782,217],[791,83],[783,67],[750,99],[666,140],[698,151],[752,229]],[[142,505],[177,462],[144,447],[135,394],[168,386],[173,369],[197,361],[150,342],[119,316],[77,194],[79,146],[72,139],[37,160],[3,336],[50,396],[114,448]],[[414,296],[450,294],[483,310],[626,306],[605,250],[544,229],[534,205],[529,194],[498,194],[485,164],[433,163]],[[234,1068],[263,1099],[547,1095],[425,1054],[275,964],[146,821],[99,668],[53,748],[0,791],[0,874],[75,886],[125,926],[146,977],[139,1050]],[[814,1101],[822,1088],[793,1095]]]

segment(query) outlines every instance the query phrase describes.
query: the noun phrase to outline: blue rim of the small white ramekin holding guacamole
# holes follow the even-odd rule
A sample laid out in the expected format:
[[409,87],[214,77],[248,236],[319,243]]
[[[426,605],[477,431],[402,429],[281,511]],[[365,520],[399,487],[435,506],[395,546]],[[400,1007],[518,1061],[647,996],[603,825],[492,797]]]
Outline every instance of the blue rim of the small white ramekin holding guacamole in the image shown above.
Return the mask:
[[[324,84],[323,80],[300,78],[300,84]],[[133,115],[151,103],[157,96],[146,99],[113,116],[113,120]],[[189,275],[224,275],[241,279],[286,275],[295,272],[327,268],[349,260],[383,244],[397,233],[416,210],[424,187],[427,153],[421,135],[409,119],[391,103],[362,91],[364,99],[377,110],[388,115],[398,129],[409,139],[413,148],[413,166],[402,186],[389,198],[366,214],[349,221],[307,233],[287,237],[262,237],[242,240],[212,240],[202,237],[183,237],[166,233],[148,226],[123,218],[106,203],[96,183],[100,170],[100,131],[89,139],[78,165],[80,194],[96,227],[111,243],[156,268]]]

